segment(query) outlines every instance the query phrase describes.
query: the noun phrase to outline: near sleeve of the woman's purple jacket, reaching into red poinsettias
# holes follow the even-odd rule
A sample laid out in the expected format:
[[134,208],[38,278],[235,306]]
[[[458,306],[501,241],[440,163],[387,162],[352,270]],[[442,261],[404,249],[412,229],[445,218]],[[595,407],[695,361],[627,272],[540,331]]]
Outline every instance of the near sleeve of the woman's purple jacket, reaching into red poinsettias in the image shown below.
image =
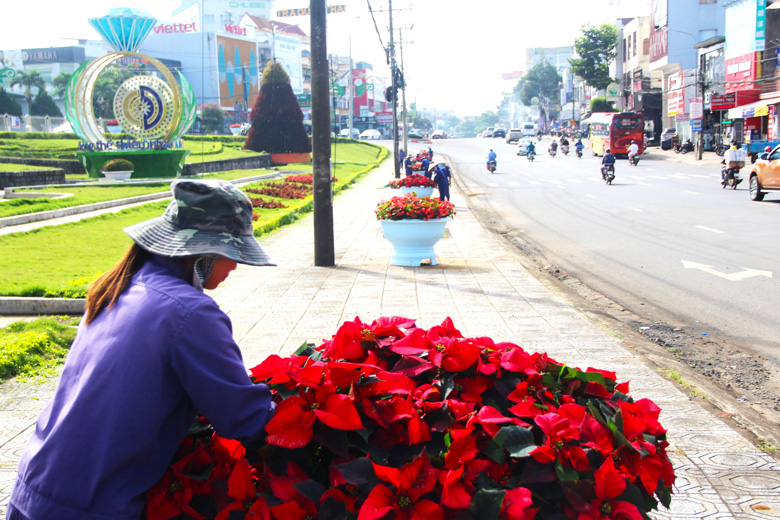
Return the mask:
[[199,306],[184,321],[169,359],[198,413],[219,435],[262,442],[276,403],[267,386],[249,379],[230,319],[215,302]]

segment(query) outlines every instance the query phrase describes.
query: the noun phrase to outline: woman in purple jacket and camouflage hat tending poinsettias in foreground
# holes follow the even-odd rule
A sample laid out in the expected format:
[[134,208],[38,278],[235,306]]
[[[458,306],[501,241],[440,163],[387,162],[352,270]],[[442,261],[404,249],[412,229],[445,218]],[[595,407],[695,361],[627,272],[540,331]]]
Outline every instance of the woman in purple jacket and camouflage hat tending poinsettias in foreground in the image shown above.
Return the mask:
[[9,520],[139,520],[197,414],[260,446],[275,403],[230,319],[203,293],[237,263],[274,265],[248,197],[179,180],[162,217],[125,229],[126,256],[90,287],[54,399],[22,454]]

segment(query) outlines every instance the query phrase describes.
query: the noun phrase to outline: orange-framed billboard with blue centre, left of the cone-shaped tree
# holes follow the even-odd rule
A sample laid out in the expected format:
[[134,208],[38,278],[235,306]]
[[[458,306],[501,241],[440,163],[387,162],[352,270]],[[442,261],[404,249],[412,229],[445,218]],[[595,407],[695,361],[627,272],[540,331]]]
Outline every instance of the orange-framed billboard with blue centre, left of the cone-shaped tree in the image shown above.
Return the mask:
[[219,105],[248,110],[255,104],[259,80],[255,42],[217,36]]

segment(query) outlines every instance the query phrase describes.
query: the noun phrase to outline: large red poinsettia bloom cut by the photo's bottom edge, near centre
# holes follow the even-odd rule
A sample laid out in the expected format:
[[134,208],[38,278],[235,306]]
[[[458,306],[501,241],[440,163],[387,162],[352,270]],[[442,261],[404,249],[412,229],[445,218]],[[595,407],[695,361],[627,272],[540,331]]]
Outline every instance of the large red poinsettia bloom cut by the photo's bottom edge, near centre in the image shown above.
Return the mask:
[[423,452],[400,469],[372,463],[376,476],[394,488],[376,486],[358,513],[358,520],[378,520],[395,511],[397,520],[442,519],[444,510],[439,504],[420,497],[436,485],[437,471],[431,467]]

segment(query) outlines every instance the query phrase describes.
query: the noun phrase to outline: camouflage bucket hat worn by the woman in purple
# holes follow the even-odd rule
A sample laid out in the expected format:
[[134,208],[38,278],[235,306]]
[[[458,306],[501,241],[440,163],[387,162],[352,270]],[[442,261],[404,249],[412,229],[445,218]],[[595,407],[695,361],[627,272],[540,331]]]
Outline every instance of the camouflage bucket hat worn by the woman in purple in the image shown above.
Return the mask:
[[213,254],[239,264],[276,265],[252,230],[252,202],[229,182],[176,180],[162,217],[125,228],[133,241],[167,257]]

